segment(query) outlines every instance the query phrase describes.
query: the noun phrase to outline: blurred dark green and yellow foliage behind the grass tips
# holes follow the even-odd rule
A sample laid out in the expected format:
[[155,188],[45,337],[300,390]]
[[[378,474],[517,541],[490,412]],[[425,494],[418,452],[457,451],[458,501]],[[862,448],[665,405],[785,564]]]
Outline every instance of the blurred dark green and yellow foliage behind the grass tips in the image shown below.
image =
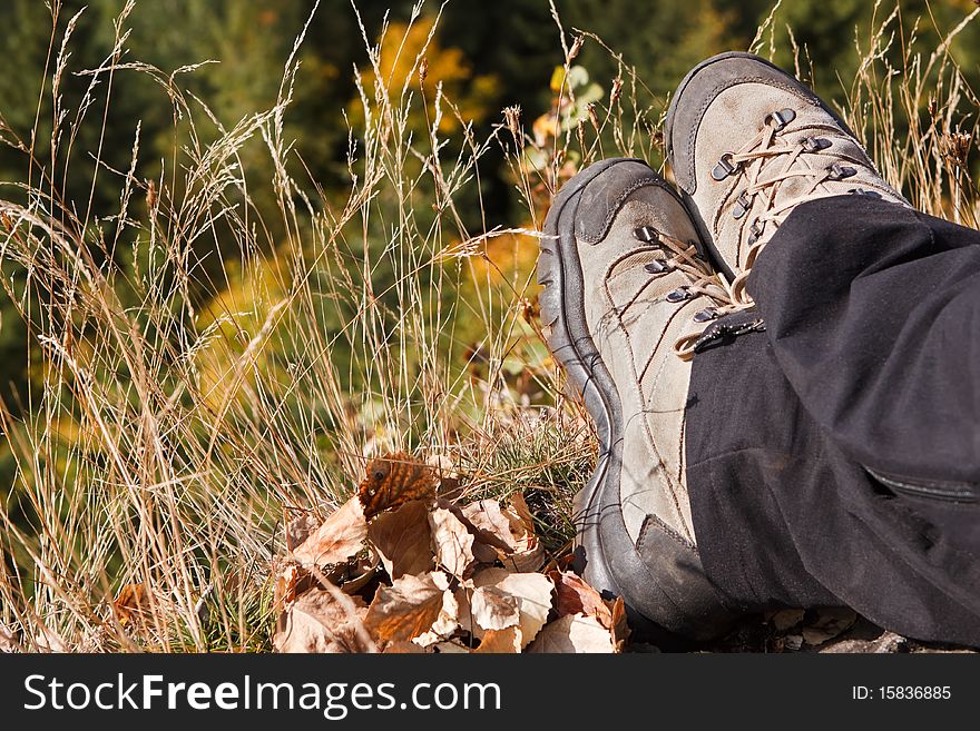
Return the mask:
[[[124,0],[69,0],[58,18],[55,38],[63,34],[68,19],[87,6],[71,42],[70,68],[95,68],[110,52],[112,19]],[[366,33],[376,38],[385,19],[404,21],[410,2],[357,0]],[[313,2],[311,0],[155,0],[139,1],[127,21],[133,28],[127,40],[126,60],[150,63],[169,75],[186,65],[207,62],[186,77],[189,90],[204,100],[217,122],[234,126],[243,117],[274,103],[282,80],[283,65]],[[620,65],[635,67],[653,98],[665,107],[669,92],[684,72],[702,58],[727,49],[748,47],[759,22],[772,10],[770,0],[556,0],[555,6],[567,31],[594,33],[619,55],[617,59],[589,38],[577,63],[591,81],[608,93]],[[873,16],[891,12],[870,0],[793,0],[775,16],[772,31],[775,60],[792,68],[792,48],[800,49],[805,76],[812,73],[819,90],[831,97],[844,95],[861,43],[871,33]],[[938,43],[973,7],[972,0],[902,0],[902,28],[918,23],[918,32],[929,47]],[[429,2],[423,13],[430,18],[440,6]],[[36,116],[40,119],[35,154],[46,159],[51,128],[51,100],[42,83],[50,85],[46,69],[52,37],[51,16],[37,0],[8,0],[0,4],[0,37],[3,72],[0,73],[0,116],[22,139],[30,138]],[[787,28],[792,28],[791,31]],[[980,37],[977,27],[960,36],[951,48],[967,80],[980,82]],[[472,116],[477,137],[486,136],[500,121],[500,110],[517,105],[530,121],[547,112],[552,101],[549,79],[564,61],[552,10],[546,0],[494,0],[494,2],[449,2],[442,9],[437,42],[444,63],[433,73],[450,73],[455,100],[464,100],[463,111]],[[901,43],[889,51],[900,57]],[[365,68],[366,53],[357,18],[346,0],[324,0],[313,18],[307,41],[300,50],[302,66],[296,79],[295,100],[286,119],[286,138],[295,138],[295,165],[304,166],[308,179],[322,184],[327,198],[344,198],[350,186],[345,158],[347,127],[344,113],[356,105],[353,69]],[[451,69],[449,67],[452,67]],[[47,81],[46,81],[46,78]],[[437,79],[438,80],[438,79]],[[77,107],[89,79],[68,75],[63,82],[66,107]],[[41,99],[40,110],[38,100]],[[97,99],[97,105],[105,105]],[[114,79],[108,108],[98,107],[89,116],[106,117],[105,137],[98,125],[86,125],[72,152],[75,174],[66,181],[65,198],[76,207],[91,206],[96,216],[118,210],[118,181],[90,189],[92,158],[101,147],[108,167],[128,168],[140,125],[140,179],[156,179],[160,160],[169,159],[175,145],[174,111],[166,95],[146,75],[119,72]],[[206,141],[206,140],[205,140]],[[243,167],[257,178],[273,176],[268,156],[253,145],[243,151]],[[493,158],[492,155],[498,155]],[[484,162],[482,214],[473,205],[464,216],[478,229],[483,220],[492,225],[521,226],[520,205],[512,195],[513,180],[502,154],[491,152]],[[659,160],[651,160],[658,164]],[[89,166],[89,170],[79,167]],[[295,172],[295,171],[294,171]],[[106,174],[101,174],[106,179]],[[0,197],[17,200],[29,182],[24,157],[0,146]],[[275,201],[256,200],[259,211]],[[141,202],[139,205],[143,205]],[[525,214],[526,215],[526,214]],[[270,220],[275,220],[270,216]],[[270,246],[283,235],[273,228]],[[196,296],[202,307],[236,284],[225,273],[234,265],[222,260],[237,257],[237,249],[224,250],[220,237],[202,240],[195,256],[202,267],[195,276]],[[4,271],[4,276],[22,276]],[[382,283],[383,284],[383,283]],[[6,297],[0,305],[0,396],[14,414],[31,397],[32,367],[37,358],[27,326]],[[331,328],[339,323],[317,323]],[[474,335],[478,337],[478,335]],[[342,354],[339,356],[342,357]],[[355,387],[357,384],[351,384]],[[0,455],[0,483],[12,480],[10,465]]]

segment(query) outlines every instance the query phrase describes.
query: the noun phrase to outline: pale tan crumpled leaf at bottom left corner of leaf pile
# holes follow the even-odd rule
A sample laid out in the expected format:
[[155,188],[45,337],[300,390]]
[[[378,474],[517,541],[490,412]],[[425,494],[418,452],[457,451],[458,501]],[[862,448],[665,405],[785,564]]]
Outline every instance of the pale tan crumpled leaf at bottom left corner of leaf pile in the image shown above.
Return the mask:
[[359,597],[351,597],[353,614],[334,594],[311,589],[296,599],[276,622],[273,646],[276,652],[370,652],[359,633],[367,610]]

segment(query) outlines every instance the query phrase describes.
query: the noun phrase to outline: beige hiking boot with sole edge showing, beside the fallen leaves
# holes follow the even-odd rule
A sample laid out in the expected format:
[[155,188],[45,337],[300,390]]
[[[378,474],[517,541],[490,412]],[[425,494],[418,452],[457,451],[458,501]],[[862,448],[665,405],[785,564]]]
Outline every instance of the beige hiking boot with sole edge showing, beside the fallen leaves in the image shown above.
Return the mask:
[[641,160],[606,160],[555,199],[538,281],[548,344],[600,442],[575,498],[578,567],[624,599],[635,629],[653,622],[704,640],[732,618],[698,557],[684,409],[694,346],[729,299],[697,241],[663,178]]

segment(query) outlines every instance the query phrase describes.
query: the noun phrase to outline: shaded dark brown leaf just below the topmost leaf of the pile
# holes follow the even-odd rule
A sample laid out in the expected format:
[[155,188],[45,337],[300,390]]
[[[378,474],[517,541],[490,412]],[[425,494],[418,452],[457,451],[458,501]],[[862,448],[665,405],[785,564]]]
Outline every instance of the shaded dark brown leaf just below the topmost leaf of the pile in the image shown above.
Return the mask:
[[424,501],[410,501],[375,517],[367,527],[367,540],[392,580],[432,570],[432,532]]

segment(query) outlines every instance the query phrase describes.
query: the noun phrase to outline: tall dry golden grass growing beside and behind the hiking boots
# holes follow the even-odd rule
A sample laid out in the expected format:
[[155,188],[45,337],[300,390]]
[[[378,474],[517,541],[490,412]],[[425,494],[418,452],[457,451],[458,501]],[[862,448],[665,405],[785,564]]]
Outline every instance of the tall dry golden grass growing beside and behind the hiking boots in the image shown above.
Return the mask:
[[[296,177],[302,161],[283,137],[295,53],[277,103],[224,129],[183,90],[193,68],[124,62],[131,9],[117,21],[114,53],[86,71],[89,99],[110,97],[118,73],[159,82],[175,142],[158,179],[138,175],[134,120],[130,169],[100,162],[91,180],[92,190],[119,189],[118,215],[96,219],[90,201],[63,198],[74,130],[105,124],[85,103],[60,107],[61,80],[78,71],[74,22],[52,42],[51,155],[38,159],[33,137],[0,128],[23,155],[24,179],[10,185],[28,200],[0,202],[0,256],[18,273],[3,285],[41,353],[37,397],[2,412],[17,478],[0,493],[0,641],[26,651],[267,649],[268,567],[284,514],[330,512],[365,460],[389,450],[448,456],[473,493],[527,490],[560,551],[595,439],[547,357],[530,266],[513,263],[532,260],[551,195],[584,165],[661,158],[666,100],[619,59],[602,98],[578,105],[576,55],[602,41],[559,23],[567,75],[550,131],[528,132],[510,110],[483,140],[458,119],[447,146],[441,117],[459,115],[441,93],[423,98],[422,55],[402,59],[411,71],[391,88],[381,45],[365,33],[374,80],[360,87],[363,122],[351,129],[351,185],[337,202]],[[863,61],[843,112],[920,208],[977,226],[967,165],[977,98],[945,45],[923,53],[914,28],[898,21],[883,17],[859,39]],[[886,53],[895,45],[898,73]],[[422,135],[412,126],[420,116]],[[906,138],[891,134],[906,126]],[[243,167],[243,148],[256,144],[272,179]],[[470,230],[459,201],[473,189],[479,200],[494,148],[508,155],[526,224],[481,217]],[[254,204],[259,190],[277,204],[275,226]],[[271,229],[286,235],[274,240]],[[194,244],[218,239],[238,256],[222,267],[222,296],[203,299]],[[126,584],[148,587],[138,619],[112,612]]]

